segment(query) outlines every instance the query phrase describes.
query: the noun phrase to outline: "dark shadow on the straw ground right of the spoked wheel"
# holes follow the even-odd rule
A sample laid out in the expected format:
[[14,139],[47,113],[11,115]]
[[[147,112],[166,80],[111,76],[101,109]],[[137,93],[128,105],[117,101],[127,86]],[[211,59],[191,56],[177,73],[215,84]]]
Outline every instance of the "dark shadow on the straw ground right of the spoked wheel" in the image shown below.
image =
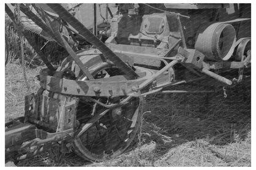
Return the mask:
[[[190,90],[191,86],[180,87]],[[142,144],[156,142],[161,157],[186,142],[204,139],[223,146],[246,139],[251,123],[250,80],[208,94],[169,94],[146,98]]]

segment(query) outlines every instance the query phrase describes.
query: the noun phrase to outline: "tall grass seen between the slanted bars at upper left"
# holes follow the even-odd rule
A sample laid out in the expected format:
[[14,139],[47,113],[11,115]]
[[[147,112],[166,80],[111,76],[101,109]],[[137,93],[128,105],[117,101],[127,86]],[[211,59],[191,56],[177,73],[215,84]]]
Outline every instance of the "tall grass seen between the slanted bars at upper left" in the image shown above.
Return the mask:
[[[60,47],[55,42],[48,42],[46,39],[43,39],[37,34],[30,33],[31,39],[34,40],[34,43],[38,44],[42,48],[44,56],[52,63],[59,64],[68,53],[62,47]],[[21,53],[20,53],[20,36],[18,36],[17,30],[15,29],[14,24],[8,17],[5,15],[5,38],[6,38],[6,48],[8,48],[6,55],[8,55],[8,63],[21,63]],[[36,54],[34,49],[28,43],[28,41],[23,38],[23,46],[25,50],[25,65],[28,68],[37,68],[38,66],[43,66],[41,58]]]

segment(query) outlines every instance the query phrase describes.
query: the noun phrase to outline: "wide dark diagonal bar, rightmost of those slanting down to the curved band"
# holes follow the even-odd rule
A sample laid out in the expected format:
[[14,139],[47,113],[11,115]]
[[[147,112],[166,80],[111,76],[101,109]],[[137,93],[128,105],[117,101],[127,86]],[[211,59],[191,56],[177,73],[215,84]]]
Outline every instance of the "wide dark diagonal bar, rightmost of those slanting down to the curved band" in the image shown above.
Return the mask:
[[63,20],[69,23],[74,29],[76,29],[82,36],[86,37],[87,41],[95,45],[103,55],[111,60],[116,66],[122,68],[122,71],[129,77],[129,79],[136,79],[138,74],[124,61],[122,61],[116,54],[114,54],[110,48],[100,41],[94,34],[90,32],[81,22],[79,22],[72,14],[65,10],[60,4],[47,4],[52,10],[54,10]]

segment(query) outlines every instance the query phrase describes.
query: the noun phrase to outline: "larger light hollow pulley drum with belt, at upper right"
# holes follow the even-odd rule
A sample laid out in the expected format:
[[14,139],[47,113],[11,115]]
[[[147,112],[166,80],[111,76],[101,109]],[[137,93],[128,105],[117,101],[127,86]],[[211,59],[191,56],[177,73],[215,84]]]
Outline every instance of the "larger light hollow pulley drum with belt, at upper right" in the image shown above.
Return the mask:
[[228,23],[214,23],[199,33],[195,48],[208,60],[226,61],[234,52],[236,31]]

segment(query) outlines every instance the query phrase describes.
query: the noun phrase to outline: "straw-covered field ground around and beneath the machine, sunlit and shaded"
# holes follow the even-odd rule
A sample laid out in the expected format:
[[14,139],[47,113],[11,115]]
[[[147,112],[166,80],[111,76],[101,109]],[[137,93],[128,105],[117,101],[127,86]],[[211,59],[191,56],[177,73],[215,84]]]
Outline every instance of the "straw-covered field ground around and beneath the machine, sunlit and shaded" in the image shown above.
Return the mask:
[[[6,66],[6,122],[23,115],[24,96],[36,92],[39,69]],[[190,85],[180,86],[182,90]],[[251,166],[250,80],[211,94],[152,95],[143,104],[138,141],[118,158],[84,162],[58,145],[17,166]]]

